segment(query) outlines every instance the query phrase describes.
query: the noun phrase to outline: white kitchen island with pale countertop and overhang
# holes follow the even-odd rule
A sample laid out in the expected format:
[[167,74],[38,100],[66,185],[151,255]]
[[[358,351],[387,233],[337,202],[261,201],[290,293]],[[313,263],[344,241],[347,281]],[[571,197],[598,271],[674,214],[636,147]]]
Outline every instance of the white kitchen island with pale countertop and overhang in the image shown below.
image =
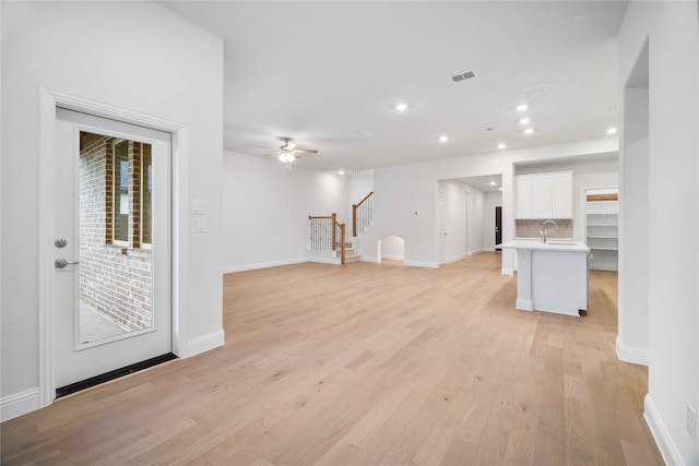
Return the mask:
[[574,316],[588,310],[590,248],[585,244],[513,240],[496,248],[517,251],[517,309]]

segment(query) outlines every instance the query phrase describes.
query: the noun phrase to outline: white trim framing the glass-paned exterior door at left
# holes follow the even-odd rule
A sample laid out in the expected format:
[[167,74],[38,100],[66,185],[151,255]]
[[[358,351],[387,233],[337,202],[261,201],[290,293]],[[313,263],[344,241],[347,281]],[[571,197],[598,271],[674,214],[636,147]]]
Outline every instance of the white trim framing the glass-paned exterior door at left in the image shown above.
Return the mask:
[[40,87],[39,97],[39,205],[38,205],[38,289],[39,289],[39,404],[54,403],[54,357],[51,342],[51,246],[54,239],[51,201],[56,160],[56,107],[110,118],[173,134],[173,353],[187,357],[185,311],[187,297],[183,271],[187,270],[187,212],[189,160],[189,128],[186,124],[90,100],[59,91]]

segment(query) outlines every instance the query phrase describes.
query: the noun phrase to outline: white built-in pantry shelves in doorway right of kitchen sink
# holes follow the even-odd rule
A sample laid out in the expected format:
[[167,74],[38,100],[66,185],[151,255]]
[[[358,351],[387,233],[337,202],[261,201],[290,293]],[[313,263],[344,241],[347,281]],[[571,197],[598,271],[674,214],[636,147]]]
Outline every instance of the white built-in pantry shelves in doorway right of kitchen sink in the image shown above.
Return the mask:
[[619,190],[585,190],[585,243],[592,250],[590,268],[618,271]]

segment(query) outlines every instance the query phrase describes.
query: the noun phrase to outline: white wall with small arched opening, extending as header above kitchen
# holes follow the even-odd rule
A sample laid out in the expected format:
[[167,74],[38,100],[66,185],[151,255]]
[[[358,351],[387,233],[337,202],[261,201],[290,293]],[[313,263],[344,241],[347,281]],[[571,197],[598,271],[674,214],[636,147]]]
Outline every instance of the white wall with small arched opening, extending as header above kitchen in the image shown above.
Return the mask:
[[[360,248],[369,259],[377,258],[377,240],[387,235],[396,235],[405,239],[406,264],[436,267],[436,181],[493,174],[502,174],[502,240],[507,241],[512,239],[514,232],[514,163],[617,151],[618,141],[615,138],[604,138],[377,168],[374,170],[376,225],[362,238]],[[414,211],[420,214],[415,216]],[[511,251],[503,251],[503,272],[511,273],[513,263]]]

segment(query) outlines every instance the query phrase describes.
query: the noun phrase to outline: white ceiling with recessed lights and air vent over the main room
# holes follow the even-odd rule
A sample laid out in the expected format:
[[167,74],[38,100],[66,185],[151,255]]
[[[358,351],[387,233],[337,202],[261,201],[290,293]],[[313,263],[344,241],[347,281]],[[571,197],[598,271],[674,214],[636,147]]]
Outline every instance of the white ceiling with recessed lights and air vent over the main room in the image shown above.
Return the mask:
[[[356,170],[605,138],[618,121],[626,2],[163,4],[224,39],[228,151],[262,155],[291,136],[319,151],[303,165]],[[476,76],[452,82],[466,71]]]

